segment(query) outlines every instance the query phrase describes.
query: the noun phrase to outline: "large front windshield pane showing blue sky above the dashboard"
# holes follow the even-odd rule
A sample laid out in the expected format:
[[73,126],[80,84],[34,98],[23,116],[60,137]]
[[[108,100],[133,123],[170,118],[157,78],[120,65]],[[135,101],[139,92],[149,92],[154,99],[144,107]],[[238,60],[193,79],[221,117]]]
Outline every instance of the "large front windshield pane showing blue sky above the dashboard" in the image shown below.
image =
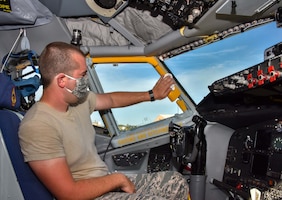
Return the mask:
[[272,22],[165,61],[195,103],[214,81],[264,61],[265,49],[282,42]]

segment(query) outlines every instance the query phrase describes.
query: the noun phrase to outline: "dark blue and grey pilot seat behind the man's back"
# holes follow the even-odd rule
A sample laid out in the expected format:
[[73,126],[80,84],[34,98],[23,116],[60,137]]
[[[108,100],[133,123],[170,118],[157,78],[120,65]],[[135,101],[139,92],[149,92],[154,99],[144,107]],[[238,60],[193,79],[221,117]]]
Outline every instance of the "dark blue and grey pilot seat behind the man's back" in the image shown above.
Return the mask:
[[1,189],[0,199],[13,197],[12,199],[53,200],[52,194],[24,162],[18,139],[18,128],[22,118],[23,115],[19,112],[0,109],[0,150],[3,149],[0,152],[0,179],[2,179],[1,176],[8,176],[5,180],[2,179],[5,181],[4,185],[13,181],[13,175],[16,179],[12,189],[8,188],[6,191]]

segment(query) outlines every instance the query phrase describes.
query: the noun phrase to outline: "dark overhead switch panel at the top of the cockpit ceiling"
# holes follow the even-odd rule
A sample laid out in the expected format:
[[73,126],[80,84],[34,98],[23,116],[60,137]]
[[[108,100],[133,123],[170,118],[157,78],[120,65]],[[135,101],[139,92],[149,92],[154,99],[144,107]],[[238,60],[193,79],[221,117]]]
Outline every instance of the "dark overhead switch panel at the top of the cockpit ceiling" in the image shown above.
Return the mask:
[[[139,10],[150,11],[151,15],[163,17],[163,22],[176,30],[182,26],[193,27],[194,24],[217,2],[218,0],[86,0],[88,6],[103,20],[118,15],[127,6]],[[108,18],[108,19],[107,19]]]

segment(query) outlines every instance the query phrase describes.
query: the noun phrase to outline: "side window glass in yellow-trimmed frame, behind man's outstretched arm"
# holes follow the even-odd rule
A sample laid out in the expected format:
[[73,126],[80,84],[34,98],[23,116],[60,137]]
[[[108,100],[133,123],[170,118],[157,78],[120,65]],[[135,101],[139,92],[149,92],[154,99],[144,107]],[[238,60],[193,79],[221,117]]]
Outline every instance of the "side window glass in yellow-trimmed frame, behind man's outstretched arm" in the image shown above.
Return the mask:
[[[148,91],[160,78],[152,65],[148,63],[130,64],[97,64],[96,72],[104,92],[115,91]],[[176,113],[182,112],[175,102],[168,98],[155,102],[143,102],[124,108],[112,109],[120,131],[152,123]],[[102,124],[97,113],[91,116],[92,121]]]

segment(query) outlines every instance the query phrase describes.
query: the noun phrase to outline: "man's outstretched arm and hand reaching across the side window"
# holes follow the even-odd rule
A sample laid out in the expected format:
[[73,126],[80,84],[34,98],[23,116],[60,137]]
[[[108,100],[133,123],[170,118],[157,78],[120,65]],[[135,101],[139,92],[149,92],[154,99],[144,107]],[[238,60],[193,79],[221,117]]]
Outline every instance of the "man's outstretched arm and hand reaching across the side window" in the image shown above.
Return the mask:
[[[175,82],[170,77],[161,77],[153,87],[152,91],[156,100],[167,97],[171,91],[171,85]],[[146,92],[112,92],[97,94],[96,110],[105,110],[110,108],[118,108],[130,106],[144,101],[150,101],[150,95]]]

